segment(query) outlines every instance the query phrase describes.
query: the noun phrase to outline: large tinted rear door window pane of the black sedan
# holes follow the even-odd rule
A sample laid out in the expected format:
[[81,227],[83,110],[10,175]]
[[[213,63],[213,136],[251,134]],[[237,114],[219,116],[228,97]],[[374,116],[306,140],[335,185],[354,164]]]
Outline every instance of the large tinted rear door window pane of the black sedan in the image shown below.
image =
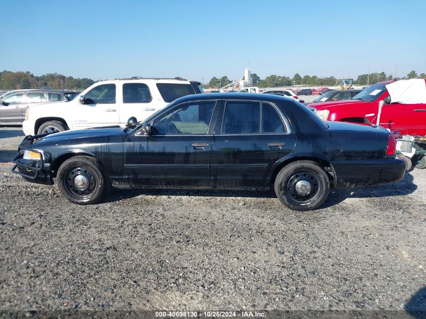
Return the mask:
[[222,134],[260,133],[260,102],[227,101]]

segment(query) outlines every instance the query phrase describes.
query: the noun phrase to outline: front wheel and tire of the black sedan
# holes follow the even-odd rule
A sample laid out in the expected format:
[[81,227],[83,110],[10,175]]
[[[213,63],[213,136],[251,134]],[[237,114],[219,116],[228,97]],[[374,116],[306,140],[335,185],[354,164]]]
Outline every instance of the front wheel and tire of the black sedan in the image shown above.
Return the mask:
[[75,156],[60,165],[57,184],[67,200],[80,205],[99,202],[109,188],[99,162],[87,156]]

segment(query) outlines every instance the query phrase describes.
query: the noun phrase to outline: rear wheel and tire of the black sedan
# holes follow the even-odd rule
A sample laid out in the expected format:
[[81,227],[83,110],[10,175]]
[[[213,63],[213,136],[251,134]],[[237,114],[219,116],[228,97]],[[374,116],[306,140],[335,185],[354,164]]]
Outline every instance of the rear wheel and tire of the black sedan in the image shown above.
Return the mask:
[[[299,184],[301,181],[308,184]],[[307,186],[309,189],[306,189]],[[289,209],[311,211],[320,207],[327,199],[330,179],[316,162],[296,161],[281,169],[275,179],[274,189],[278,199]],[[307,191],[309,193],[305,193]]]

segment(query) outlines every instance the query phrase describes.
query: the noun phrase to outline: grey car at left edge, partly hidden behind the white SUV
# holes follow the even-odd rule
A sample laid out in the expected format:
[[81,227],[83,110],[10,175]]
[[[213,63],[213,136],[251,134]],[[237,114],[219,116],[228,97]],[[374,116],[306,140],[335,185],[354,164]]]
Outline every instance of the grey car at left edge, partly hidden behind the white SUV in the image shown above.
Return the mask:
[[15,90],[0,97],[0,125],[21,125],[27,108],[35,104],[68,102],[78,93],[72,90]]

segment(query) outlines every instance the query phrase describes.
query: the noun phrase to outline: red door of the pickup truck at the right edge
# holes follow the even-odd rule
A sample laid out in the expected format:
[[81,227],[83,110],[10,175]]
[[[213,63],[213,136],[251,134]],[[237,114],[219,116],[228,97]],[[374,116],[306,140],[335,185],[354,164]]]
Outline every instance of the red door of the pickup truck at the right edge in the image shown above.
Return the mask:
[[[389,98],[385,99],[388,100]],[[426,104],[384,104],[380,125],[402,135],[426,135]]]

